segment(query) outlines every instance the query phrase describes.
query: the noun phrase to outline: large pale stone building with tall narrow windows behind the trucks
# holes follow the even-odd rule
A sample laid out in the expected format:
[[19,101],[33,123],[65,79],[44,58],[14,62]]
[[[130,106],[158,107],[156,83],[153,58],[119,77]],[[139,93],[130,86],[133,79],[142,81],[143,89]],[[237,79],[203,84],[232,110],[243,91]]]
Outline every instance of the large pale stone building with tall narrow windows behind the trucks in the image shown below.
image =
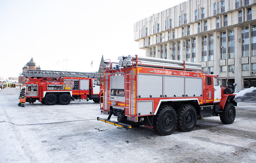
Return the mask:
[[148,57],[202,63],[238,91],[256,87],[256,0],[189,0],[136,22],[134,40]]

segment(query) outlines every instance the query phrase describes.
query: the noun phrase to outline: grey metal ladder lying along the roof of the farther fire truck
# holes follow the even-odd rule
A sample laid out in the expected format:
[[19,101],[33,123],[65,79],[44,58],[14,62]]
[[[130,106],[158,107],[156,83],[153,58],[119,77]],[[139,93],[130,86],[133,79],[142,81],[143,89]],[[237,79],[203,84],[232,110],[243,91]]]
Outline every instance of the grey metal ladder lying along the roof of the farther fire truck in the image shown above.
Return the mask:
[[100,73],[92,72],[70,72],[70,71],[49,71],[28,69],[22,73],[24,77],[94,77],[100,78]]

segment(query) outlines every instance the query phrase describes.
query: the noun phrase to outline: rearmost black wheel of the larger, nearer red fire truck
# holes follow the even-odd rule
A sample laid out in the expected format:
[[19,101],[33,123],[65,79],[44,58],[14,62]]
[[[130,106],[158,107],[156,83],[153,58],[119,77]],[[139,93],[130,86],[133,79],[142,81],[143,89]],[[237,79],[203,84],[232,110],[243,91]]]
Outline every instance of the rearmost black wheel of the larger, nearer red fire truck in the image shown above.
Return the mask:
[[177,114],[170,106],[160,106],[154,116],[153,129],[159,135],[170,135],[177,125]]

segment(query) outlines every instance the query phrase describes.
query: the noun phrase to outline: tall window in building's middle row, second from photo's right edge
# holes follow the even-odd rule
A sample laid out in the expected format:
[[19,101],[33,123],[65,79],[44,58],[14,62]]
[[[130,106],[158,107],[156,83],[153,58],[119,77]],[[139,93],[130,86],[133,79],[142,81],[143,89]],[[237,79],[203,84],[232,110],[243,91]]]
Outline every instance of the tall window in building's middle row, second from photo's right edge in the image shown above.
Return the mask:
[[242,27],[242,57],[249,57],[249,27]]

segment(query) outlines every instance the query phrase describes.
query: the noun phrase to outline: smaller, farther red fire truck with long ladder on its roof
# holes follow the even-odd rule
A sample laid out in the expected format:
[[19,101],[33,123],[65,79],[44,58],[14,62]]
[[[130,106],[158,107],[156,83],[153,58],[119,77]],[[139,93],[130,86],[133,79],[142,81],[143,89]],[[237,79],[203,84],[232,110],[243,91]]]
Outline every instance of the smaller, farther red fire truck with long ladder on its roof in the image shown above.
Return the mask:
[[[71,100],[100,102],[100,73],[45,71],[28,69],[22,73],[26,81],[26,102],[36,100],[46,105],[68,105]],[[102,94],[103,95],[103,94]],[[103,97],[102,97],[103,98]]]

